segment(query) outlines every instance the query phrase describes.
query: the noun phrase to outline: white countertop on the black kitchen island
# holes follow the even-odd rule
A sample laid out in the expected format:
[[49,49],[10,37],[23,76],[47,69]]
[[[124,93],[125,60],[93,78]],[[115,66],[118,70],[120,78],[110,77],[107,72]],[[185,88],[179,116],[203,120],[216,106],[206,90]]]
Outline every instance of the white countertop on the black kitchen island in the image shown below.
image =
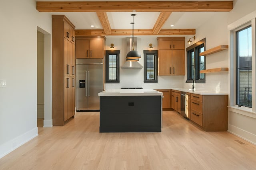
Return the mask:
[[107,89],[99,96],[162,96],[162,92],[152,89]]

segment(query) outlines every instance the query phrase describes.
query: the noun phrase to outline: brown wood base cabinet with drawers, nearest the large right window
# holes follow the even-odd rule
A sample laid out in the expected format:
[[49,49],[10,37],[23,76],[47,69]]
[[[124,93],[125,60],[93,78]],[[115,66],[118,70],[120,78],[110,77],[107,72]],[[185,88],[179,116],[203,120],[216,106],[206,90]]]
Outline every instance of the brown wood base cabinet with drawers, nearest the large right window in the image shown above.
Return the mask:
[[228,130],[228,95],[191,93],[190,120],[205,131]]

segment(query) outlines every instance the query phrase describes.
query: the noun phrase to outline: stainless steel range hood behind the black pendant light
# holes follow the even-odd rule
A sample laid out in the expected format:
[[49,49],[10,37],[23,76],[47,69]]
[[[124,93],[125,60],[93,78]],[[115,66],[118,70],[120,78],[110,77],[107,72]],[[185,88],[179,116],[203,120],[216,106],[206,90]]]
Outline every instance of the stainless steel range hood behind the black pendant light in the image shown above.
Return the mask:
[[[133,47],[134,50],[137,51],[137,37],[133,38],[133,43],[132,44],[132,37],[126,38],[126,53],[129,51],[132,51]],[[139,59],[126,59],[126,62],[121,66],[121,68],[139,68],[142,69],[143,66],[138,63]]]

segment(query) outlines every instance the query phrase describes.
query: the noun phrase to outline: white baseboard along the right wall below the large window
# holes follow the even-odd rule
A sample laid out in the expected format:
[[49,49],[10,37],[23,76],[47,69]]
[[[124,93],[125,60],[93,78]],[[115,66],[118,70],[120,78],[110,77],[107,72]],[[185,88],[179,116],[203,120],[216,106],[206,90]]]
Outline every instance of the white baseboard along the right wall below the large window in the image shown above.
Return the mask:
[[253,145],[256,145],[256,135],[254,135],[253,133],[250,133],[230,124],[228,124],[228,132],[252,143]]

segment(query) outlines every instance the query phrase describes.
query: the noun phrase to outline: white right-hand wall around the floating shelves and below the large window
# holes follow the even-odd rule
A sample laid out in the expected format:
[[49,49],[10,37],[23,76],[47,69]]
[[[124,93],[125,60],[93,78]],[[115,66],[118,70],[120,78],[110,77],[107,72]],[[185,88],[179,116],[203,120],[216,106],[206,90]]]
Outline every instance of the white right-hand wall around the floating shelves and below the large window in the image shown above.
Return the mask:
[[[202,26],[196,28],[196,41],[206,38],[206,50],[218,45],[230,45],[228,25],[256,9],[255,0],[234,0],[234,8],[231,12],[221,12],[214,15]],[[256,17],[256,16],[255,16]],[[244,23],[248,20],[244,20]],[[188,36],[189,37],[189,36]],[[229,67],[228,72],[216,72],[206,74],[205,84],[196,84],[196,90],[204,91],[220,91],[228,93],[232,96],[235,84],[230,82],[230,47],[228,50],[221,51],[209,56],[206,56],[206,69]],[[233,66],[232,66],[233,67]],[[185,88],[191,87],[187,83]],[[231,87],[231,89],[230,89]],[[233,100],[231,98],[230,100]],[[230,101],[229,101],[230,102]],[[228,131],[243,139],[256,144],[256,114],[252,111],[229,108],[228,113]]]

